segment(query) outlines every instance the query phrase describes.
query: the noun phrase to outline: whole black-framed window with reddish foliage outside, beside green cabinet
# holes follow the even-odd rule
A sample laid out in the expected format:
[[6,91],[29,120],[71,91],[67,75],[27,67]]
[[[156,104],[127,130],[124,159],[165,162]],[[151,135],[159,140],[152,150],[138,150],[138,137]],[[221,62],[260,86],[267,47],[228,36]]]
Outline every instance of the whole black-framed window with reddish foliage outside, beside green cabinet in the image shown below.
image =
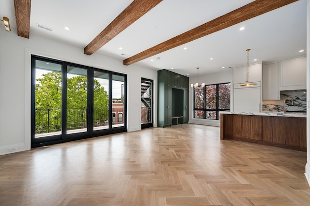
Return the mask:
[[194,118],[218,120],[218,112],[230,108],[230,83],[206,85],[194,89]]

